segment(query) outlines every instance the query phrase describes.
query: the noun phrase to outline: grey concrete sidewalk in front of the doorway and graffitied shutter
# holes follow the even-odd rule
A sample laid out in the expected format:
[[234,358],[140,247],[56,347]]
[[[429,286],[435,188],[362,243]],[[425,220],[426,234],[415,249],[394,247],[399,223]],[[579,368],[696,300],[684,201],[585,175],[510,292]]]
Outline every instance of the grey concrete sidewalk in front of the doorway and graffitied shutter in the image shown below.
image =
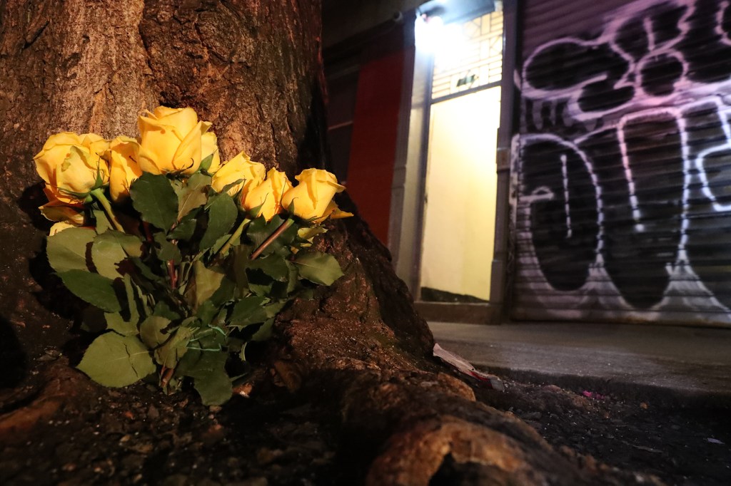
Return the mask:
[[429,323],[445,350],[518,380],[731,404],[731,329]]

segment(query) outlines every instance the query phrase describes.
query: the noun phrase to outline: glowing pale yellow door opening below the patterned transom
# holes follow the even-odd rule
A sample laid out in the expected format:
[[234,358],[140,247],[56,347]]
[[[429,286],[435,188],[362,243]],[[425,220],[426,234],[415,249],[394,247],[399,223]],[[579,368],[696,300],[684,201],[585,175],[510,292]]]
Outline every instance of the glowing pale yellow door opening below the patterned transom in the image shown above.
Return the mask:
[[423,301],[490,298],[500,87],[433,104],[420,286]]

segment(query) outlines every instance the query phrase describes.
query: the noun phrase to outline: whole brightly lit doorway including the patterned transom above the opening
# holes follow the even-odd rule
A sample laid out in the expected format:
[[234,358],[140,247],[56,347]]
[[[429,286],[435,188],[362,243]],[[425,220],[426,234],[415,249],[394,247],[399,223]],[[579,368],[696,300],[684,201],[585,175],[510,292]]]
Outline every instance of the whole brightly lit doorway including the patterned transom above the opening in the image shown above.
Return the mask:
[[502,12],[443,26],[436,39],[425,110],[416,293],[420,301],[487,303],[495,239]]

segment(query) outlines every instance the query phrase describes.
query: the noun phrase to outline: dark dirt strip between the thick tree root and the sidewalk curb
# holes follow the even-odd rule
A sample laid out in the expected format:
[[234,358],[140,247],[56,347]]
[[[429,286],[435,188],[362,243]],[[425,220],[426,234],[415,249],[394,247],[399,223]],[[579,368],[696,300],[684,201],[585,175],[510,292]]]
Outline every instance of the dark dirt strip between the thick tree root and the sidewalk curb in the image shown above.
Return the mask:
[[508,380],[477,397],[512,412],[567,455],[654,474],[667,485],[731,485],[730,409],[681,406]]

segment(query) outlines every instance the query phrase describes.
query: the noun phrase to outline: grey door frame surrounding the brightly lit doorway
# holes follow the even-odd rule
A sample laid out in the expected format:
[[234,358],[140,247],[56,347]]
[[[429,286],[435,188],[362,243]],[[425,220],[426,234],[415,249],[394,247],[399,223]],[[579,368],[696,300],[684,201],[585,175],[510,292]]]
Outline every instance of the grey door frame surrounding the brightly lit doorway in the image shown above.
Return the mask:
[[[503,1],[503,61],[501,87],[500,128],[496,151],[496,215],[494,252],[491,269],[491,292],[487,304],[425,302],[420,299],[420,270],[425,219],[426,166],[430,126],[431,81],[433,55],[420,50],[411,51],[412,59],[404,63],[404,96],[398,123],[398,147],[394,166],[389,222],[388,247],[401,279],[412,290],[414,301],[426,320],[463,323],[500,323],[506,317],[507,276],[510,248],[510,179],[511,143],[514,133],[515,57],[517,53],[518,0]],[[469,15],[455,22],[467,20],[481,13]],[[477,13],[477,15],[475,15]],[[415,15],[414,15],[415,18]],[[413,61],[413,62],[410,62]],[[484,88],[493,87],[486,85]],[[469,94],[472,90],[454,96]],[[410,96],[409,96],[410,95]],[[447,97],[437,99],[445,101]]]

